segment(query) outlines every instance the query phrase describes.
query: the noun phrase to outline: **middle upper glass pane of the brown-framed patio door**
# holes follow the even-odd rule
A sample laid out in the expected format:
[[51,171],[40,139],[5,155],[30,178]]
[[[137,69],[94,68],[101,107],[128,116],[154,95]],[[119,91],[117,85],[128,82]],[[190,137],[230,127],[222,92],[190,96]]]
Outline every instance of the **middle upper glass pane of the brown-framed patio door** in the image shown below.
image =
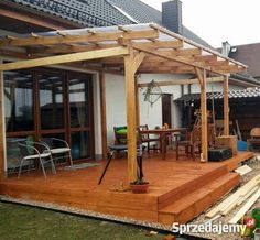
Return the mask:
[[64,128],[63,79],[58,75],[39,75],[42,129]]

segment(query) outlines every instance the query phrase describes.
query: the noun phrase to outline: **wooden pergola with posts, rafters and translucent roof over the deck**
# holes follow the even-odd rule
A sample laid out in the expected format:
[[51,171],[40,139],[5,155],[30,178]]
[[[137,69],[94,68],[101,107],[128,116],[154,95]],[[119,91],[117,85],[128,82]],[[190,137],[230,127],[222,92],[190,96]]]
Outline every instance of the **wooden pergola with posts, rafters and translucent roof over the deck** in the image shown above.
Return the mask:
[[[136,127],[139,123],[138,83],[136,74],[167,73],[195,74],[196,79],[173,80],[172,84],[201,85],[202,151],[207,162],[207,73],[220,76],[224,81],[225,134],[229,133],[228,79],[230,73],[246,72],[247,66],[225,57],[216,51],[204,47],[156,24],[136,24],[31,33],[22,37],[6,36],[0,40],[0,53],[19,58],[13,63],[0,64],[0,128],[3,121],[3,75],[4,70],[69,64],[100,72],[101,102],[105,96],[105,72],[124,74],[128,126],[128,175],[137,177]],[[77,63],[76,63],[77,62]],[[74,64],[76,63],[76,64]],[[213,79],[210,81],[214,81]],[[166,84],[165,84],[166,85]],[[171,83],[167,83],[171,85]],[[107,151],[106,107],[101,105],[102,150]],[[3,133],[2,132],[2,133]],[[3,177],[4,139],[0,140],[0,176]]]

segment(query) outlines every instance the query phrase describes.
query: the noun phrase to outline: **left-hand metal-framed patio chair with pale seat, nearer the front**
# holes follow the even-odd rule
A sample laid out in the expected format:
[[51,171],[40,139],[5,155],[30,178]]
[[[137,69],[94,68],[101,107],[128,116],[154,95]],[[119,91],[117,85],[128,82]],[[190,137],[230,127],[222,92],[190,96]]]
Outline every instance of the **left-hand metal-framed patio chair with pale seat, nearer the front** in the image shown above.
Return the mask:
[[[51,151],[46,145],[44,145],[42,143],[37,143],[37,142],[28,142],[28,141],[19,142],[18,145],[20,149],[20,154],[22,156],[21,162],[20,162],[18,178],[20,178],[20,175],[22,172],[22,166],[23,166],[24,162],[29,162],[29,164],[28,164],[28,172],[29,172],[30,162],[35,162],[36,160],[40,161],[40,165],[41,165],[41,168],[43,171],[43,175],[45,178],[46,178],[46,172],[44,168],[45,163],[50,162],[51,166],[52,166],[52,172],[54,174],[56,174],[56,170],[55,170],[55,165],[54,165],[54,162],[52,159]],[[40,145],[41,148],[43,148],[45,150],[42,153],[40,153],[40,151],[36,148],[34,148],[34,145]],[[46,159],[48,159],[48,160],[46,160]]]

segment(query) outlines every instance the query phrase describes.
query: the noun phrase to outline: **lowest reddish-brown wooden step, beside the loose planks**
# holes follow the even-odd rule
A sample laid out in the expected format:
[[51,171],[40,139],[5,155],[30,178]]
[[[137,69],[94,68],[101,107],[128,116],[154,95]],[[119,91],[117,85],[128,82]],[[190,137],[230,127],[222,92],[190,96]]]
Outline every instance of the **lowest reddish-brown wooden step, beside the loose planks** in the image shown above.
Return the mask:
[[164,225],[186,223],[237,186],[239,179],[240,177],[236,173],[227,173],[218,177],[216,181],[160,209],[159,222]]

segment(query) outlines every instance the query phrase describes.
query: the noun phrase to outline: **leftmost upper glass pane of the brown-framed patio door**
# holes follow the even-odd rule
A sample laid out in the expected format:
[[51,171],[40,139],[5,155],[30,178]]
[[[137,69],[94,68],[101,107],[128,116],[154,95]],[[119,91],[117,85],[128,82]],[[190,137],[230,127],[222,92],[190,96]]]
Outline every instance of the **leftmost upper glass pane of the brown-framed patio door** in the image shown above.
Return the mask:
[[3,72],[7,132],[34,130],[33,77],[28,72]]

